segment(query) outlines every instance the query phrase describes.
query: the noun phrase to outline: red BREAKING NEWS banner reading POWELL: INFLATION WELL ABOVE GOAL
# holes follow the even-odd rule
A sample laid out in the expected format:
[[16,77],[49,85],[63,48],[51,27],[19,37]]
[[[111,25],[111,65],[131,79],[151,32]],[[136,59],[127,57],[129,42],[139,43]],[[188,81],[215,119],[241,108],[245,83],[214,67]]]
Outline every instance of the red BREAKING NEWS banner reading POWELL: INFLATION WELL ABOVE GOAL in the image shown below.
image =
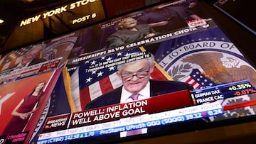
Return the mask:
[[[78,113],[65,114],[50,117],[46,121],[43,133],[60,131],[67,128],[87,126],[107,121],[115,121],[119,118],[138,116],[145,113],[158,113],[193,106],[193,101],[188,90],[154,96],[123,104],[113,104],[97,109],[80,111]],[[70,120],[68,119],[70,117]],[[68,123],[69,122],[69,123]],[[67,126],[68,125],[68,126]]]

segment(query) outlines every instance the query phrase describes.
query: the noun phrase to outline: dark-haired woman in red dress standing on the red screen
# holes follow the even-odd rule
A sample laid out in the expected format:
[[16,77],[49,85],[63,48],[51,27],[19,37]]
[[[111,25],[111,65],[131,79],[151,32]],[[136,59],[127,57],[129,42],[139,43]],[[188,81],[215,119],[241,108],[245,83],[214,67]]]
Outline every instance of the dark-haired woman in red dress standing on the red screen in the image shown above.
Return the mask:
[[[4,128],[4,132],[2,135],[8,135],[12,133],[20,133],[26,126],[31,113],[36,111],[38,108],[41,98],[43,97],[43,87],[45,86],[46,82],[39,82],[36,87],[33,89],[31,94],[24,97],[15,109],[11,112],[11,121],[7,124]],[[38,104],[36,106],[36,104]],[[35,108],[36,106],[36,108]]]

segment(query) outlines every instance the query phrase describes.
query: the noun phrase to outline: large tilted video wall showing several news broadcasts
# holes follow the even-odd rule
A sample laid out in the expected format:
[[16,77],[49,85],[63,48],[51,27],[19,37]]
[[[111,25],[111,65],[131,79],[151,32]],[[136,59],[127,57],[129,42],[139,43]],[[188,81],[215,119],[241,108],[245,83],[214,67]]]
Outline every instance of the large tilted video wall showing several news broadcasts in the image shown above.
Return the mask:
[[1,143],[114,143],[255,118],[256,72],[199,1],[2,55]]

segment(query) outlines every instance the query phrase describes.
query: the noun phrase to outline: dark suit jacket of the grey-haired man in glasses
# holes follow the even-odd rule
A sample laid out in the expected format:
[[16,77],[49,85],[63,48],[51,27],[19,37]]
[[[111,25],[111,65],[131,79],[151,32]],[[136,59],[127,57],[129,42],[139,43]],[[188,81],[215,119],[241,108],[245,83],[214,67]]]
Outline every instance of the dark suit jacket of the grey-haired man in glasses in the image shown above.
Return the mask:
[[[167,94],[171,92],[177,92],[184,89],[192,90],[193,87],[190,84],[176,81],[166,80],[153,80],[149,79],[150,82],[150,96],[158,96],[161,94]],[[94,109],[101,106],[109,106],[111,104],[119,104],[121,99],[122,87],[112,90],[97,99],[90,101],[85,106],[85,109]]]

